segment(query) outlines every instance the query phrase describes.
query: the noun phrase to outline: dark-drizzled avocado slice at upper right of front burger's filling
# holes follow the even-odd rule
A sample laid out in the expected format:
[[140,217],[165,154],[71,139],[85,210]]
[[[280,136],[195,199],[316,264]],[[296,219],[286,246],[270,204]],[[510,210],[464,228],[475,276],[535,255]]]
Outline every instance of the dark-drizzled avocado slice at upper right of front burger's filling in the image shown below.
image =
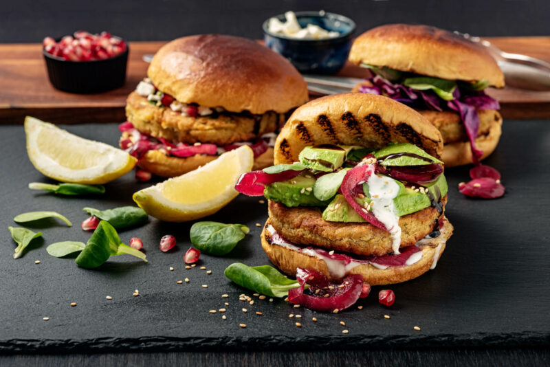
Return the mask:
[[439,163],[439,159],[432,157],[418,146],[413,144],[390,144],[374,153],[376,159],[384,159],[382,166],[422,166]]

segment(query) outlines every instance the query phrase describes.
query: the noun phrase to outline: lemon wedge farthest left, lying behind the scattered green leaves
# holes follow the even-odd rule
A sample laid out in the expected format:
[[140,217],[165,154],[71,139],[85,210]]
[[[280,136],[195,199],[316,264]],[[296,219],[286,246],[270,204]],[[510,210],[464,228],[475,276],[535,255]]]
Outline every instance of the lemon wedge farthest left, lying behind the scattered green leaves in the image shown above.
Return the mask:
[[43,175],[63,182],[99,185],[132,170],[137,159],[37,118],[25,118],[27,154]]

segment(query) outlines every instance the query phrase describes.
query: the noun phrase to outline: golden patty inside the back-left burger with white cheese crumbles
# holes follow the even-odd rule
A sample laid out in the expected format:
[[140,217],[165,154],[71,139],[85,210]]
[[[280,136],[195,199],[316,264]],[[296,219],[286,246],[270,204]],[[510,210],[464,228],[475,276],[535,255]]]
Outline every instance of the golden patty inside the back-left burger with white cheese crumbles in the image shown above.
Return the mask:
[[146,135],[171,142],[200,142],[218,146],[253,140],[273,133],[285,123],[285,114],[274,111],[263,115],[224,111],[206,116],[184,116],[168,107],[151,104],[135,91],[126,100],[126,117],[135,129]]

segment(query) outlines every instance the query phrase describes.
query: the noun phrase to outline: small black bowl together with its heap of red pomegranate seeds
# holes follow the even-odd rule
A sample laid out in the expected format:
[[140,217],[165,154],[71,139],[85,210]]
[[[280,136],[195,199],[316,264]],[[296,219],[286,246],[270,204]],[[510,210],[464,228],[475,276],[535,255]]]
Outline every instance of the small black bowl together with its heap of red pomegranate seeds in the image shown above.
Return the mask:
[[128,45],[109,32],[46,37],[43,54],[50,82],[72,93],[98,93],[124,85]]

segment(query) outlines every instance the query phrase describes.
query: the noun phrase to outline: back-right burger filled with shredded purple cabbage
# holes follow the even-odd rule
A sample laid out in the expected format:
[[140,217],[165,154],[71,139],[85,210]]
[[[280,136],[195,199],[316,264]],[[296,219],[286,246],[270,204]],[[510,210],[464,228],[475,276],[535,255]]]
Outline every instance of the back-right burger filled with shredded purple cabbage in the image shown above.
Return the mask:
[[445,166],[478,164],[500,139],[498,102],[485,88],[504,75],[482,45],[427,25],[389,24],[361,34],[349,60],[373,74],[354,89],[419,111],[441,131]]

